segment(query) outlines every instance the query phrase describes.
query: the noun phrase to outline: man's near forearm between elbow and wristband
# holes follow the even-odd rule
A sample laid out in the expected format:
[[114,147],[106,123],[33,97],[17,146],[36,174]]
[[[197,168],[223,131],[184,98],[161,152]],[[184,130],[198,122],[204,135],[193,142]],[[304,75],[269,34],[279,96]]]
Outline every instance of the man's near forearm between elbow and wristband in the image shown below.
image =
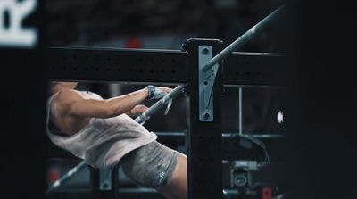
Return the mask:
[[107,106],[110,116],[120,115],[133,109],[137,104],[142,103],[148,96],[147,88],[129,93],[127,95],[120,95],[107,99],[105,105]]

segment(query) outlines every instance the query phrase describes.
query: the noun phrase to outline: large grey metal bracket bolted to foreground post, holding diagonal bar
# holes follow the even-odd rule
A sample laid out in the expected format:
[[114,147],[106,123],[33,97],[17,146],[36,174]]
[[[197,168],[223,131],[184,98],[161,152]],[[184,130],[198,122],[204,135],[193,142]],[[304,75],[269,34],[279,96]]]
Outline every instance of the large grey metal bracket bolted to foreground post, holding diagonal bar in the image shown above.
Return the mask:
[[217,75],[218,64],[210,70],[203,70],[205,64],[212,59],[212,46],[198,46],[198,85],[200,121],[213,121],[213,85]]

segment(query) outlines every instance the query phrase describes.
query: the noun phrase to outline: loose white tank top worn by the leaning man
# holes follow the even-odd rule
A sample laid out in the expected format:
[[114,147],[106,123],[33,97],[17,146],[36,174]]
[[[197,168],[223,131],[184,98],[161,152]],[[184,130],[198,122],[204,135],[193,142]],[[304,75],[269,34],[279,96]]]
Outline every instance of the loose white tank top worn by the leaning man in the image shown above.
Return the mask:
[[[85,98],[102,99],[91,92],[80,92]],[[54,145],[71,152],[95,168],[112,168],[120,158],[130,151],[146,145],[157,136],[149,132],[126,114],[101,119],[91,118],[79,132],[71,136],[55,135],[48,129],[49,116],[55,117],[51,109],[51,97],[47,103],[47,135]]]

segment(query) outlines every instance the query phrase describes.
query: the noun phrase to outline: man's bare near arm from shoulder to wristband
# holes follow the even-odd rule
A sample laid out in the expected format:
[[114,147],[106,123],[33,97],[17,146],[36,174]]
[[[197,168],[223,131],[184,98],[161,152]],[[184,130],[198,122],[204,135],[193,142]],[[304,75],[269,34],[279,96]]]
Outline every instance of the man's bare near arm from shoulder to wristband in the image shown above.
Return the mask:
[[77,91],[65,91],[59,96],[66,114],[78,117],[111,118],[133,109],[143,102],[148,95],[147,88],[128,95],[120,95],[110,99],[85,99]]

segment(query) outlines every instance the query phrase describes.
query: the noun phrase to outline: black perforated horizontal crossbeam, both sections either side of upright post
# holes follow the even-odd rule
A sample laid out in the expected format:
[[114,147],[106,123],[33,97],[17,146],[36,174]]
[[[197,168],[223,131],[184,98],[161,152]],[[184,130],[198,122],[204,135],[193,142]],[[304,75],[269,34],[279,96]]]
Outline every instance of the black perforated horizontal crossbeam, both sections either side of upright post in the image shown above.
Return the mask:
[[[51,80],[187,83],[187,54],[180,51],[101,48],[49,48],[47,51],[47,69]],[[234,52],[224,60],[224,84],[281,86],[281,77],[285,76],[284,70],[288,68],[284,57],[284,54]],[[117,58],[120,60],[116,61]]]

